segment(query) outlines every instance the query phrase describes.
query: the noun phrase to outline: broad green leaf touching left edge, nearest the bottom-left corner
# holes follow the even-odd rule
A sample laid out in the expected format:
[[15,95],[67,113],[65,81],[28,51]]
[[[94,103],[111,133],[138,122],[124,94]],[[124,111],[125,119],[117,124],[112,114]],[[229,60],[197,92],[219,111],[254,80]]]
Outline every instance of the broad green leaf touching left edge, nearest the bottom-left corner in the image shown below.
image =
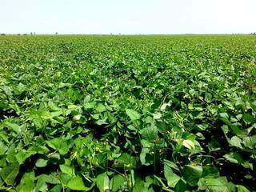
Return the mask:
[[0,175],[4,182],[8,185],[13,185],[15,182],[15,178],[19,172],[19,165],[18,163],[12,163],[9,166],[5,166],[0,170]]

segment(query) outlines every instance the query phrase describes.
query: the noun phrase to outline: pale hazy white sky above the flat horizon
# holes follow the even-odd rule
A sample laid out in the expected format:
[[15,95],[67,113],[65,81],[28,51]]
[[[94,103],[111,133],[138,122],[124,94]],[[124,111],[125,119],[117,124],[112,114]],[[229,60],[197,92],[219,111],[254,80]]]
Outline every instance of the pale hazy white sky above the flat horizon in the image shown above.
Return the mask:
[[0,0],[0,33],[256,32],[256,0]]

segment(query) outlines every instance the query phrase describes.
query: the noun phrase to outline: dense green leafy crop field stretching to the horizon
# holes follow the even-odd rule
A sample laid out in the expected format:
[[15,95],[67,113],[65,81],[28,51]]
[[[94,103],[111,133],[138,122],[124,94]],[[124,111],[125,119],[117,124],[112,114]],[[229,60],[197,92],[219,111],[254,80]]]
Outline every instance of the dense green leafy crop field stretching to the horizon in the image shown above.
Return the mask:
[[0,36],[1,191],[256,191],[253,35]]

